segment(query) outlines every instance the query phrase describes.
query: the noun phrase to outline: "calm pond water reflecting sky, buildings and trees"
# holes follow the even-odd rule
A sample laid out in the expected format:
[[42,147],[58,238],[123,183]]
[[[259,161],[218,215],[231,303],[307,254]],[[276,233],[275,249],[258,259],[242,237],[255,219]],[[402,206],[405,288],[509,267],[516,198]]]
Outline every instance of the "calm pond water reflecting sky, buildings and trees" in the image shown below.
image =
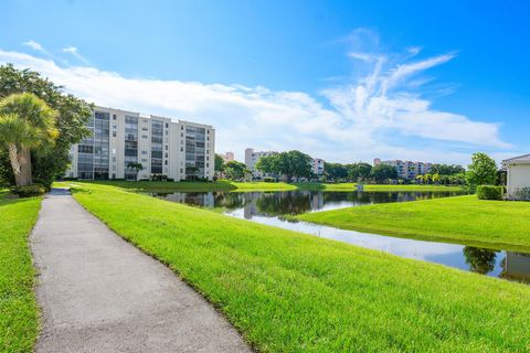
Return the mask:
[[224,214],[286,229],[379,249],[398,256],[443,264],[495,277],[530,281],[530,254],[491,250],[458,244],[423,242],[378,234],[343,231],[306,222],[293,222],[284,215],[296,215],[341,207],[385,202],[406,202],[446,197],[459,192],[203,192],[153,194],[172,202],[209,208]]

